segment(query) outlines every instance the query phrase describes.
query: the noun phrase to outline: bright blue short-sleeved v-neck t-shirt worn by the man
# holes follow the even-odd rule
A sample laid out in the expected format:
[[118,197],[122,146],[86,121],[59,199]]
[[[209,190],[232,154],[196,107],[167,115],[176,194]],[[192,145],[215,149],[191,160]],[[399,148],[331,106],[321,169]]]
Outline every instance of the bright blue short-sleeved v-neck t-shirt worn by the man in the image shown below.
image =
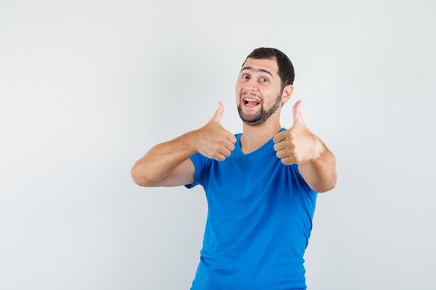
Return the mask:
[[225,161],[190,158],[194,183],[185,186],[201,184],[208,200],[191,290],[306,289],[303,255],[318,193],[296,164],[281,163],[272,139],[244,154],[240,136]]

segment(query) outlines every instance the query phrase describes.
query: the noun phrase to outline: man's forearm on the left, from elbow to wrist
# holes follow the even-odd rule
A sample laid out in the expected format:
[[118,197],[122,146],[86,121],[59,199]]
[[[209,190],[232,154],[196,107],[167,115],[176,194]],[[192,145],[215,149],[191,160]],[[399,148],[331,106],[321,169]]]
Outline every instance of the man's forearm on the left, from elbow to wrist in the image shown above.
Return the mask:
[[174,140],[160,143],[139,159],[131,170],[134,182],[156,182],[176,168],[180,163],[196,154],[196,131],[191,131]]

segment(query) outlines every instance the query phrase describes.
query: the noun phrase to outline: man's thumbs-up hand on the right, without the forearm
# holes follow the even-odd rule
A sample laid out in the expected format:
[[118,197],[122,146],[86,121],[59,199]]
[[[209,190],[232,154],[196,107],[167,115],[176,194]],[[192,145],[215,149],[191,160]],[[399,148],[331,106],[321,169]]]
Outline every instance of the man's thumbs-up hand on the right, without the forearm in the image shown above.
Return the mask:
[[294,123],[290,129],[274,136],[274,150],[285,165],[301,164],[320,156],[320,139],[307,129],[302,113],[299,111],[302,101],[293,106]]

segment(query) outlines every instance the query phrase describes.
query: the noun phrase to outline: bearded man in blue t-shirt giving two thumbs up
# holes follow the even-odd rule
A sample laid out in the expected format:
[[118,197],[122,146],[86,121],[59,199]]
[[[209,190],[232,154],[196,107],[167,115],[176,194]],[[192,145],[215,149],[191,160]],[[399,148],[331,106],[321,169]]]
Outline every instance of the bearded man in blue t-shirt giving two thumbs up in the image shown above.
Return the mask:
[[278,49],[254,49],[236,82],[242,134],[212,119],[153,147],[132,168],[140,186],[203,186],[208,200],[192,290],[306,289],[304,250],[317,193],[336,186],[336,160],[309,131],[298,101],[293,126],[280,113],[294,68]]

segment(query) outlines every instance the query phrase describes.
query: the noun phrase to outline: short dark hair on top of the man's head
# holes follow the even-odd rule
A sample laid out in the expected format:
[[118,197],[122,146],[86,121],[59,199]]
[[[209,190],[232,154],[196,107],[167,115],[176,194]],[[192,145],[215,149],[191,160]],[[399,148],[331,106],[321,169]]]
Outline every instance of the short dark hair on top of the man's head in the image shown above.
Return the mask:
[[[251,51],[251,54],[249,54],[249,56],[245,58],[244,63],[247,61],[248,58],[268,59],[274,57],[277,59],[277,66],[279,67],[281,84],[280,91],[283,91],[283,88],[294,83],[295,78],[293,63],[291,63],[290,59],[288,58],[288,56],[286,56],[286,54],[283,54],[283,52],[279,51],[279,49],[274,49],[271,47],[259,47],[254,49],[254,51]],[[242,66],[244,65],[244,63],[242,63]]]

